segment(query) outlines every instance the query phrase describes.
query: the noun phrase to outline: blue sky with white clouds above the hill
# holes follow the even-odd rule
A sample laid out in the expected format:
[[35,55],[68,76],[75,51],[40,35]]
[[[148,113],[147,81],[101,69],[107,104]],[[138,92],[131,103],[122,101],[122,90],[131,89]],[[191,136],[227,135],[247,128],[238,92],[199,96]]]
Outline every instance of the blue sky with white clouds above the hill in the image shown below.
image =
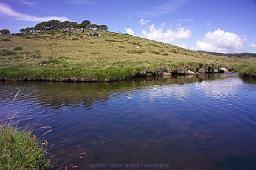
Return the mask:
[[256,0],[1,0],[0,29],[51,19],[106,24],[186,49],[256,52]]

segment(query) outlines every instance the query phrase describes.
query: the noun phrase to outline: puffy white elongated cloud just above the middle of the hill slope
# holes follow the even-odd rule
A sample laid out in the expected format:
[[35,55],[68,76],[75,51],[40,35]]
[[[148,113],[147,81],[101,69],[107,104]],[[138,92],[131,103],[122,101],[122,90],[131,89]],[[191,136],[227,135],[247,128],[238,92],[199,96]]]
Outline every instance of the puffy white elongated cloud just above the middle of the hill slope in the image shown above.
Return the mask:
[[162,28],[156,29],[154,24],[150,26],[149,31],[143,30],[141,33],[144,38],[164,43],[171,43],[175,40],[188,39],[191,37],[191,31],[184,27],[179,27],[176,30],[167,29],[163,31]]

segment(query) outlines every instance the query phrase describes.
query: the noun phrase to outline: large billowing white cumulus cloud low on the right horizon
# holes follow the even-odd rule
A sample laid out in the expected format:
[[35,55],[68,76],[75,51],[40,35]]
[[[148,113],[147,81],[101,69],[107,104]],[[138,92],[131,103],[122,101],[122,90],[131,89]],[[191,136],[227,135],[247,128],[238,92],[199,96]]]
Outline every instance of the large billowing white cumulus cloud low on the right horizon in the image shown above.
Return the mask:
[[202,40],[196,41],[193,50],[206,50],[211,52],[240,52],[244,48],[245,39],[235,33],[229,33],[220,28],[214,32],[208,32]]

